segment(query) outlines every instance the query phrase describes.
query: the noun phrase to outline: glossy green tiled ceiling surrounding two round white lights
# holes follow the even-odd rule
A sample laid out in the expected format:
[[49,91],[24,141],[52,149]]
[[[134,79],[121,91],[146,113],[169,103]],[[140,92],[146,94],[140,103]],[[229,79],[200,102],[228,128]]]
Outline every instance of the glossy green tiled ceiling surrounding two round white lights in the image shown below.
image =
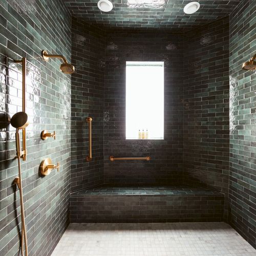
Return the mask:
[[[190,0],[110,0],[111,12],[101,12],[98,0],[63,0],[71,15],[108,27],[190,29],[229,15],[242,0],[198,0],[200,9],[185,14]],[[194,0],[195,1],[195,0]]]

